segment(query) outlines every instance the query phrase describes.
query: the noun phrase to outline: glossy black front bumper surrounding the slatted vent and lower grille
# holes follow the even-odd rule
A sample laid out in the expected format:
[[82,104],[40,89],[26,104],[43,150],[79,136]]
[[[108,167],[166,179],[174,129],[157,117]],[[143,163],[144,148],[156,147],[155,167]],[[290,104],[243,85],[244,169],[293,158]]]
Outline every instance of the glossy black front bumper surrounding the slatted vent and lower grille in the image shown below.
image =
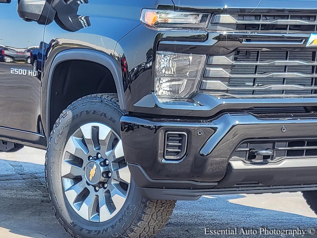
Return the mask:
[[[268,117],[270,118],[232,113],[223,114],[216,120],[195,121],[123,116],[121,136],[125,153],[129,155],[126,156],[126,161],[139,168],[140,171],[135,172],[139,174],[136,182],[139,182],[139,187],[146,188],[159,188],[159,186],[160,188],[180,188],[172,187],[173,185],[168,182],[159,182],[160,180],[219,183],[217,186],[209,185],[215,188],[233,188],[242,181],[245,183],[258,181],[259,187],[316,184],[317,164],[314,165],[315,160],[312,158],[310,162],[297,160],[299,163],[294,167],[298,166],[298,168],[293,171],[293,174],[289,172],[294,170],[294,167],[289,167],[287,163],[276,163],[270,167],[271,165],[268,164],[244,165],[242,162],[236,165],[231,162],[232,167],[228,166],[230,155],[246,138],[313,138],[316,136],[314,129],[317,125],[316,114],[288,116],[288,119],[285,116]],[[287,131],[283,132],[282,127],[286,127]],[[199,129],[204,132],[202,136],[197,134]],[[187,154],[178,162],[162,161],[166,131],[184,131],[188,134]],[[153,145],[156,146],[153,148]],[[276,175],[273,176],[275,173]],[[197,188],[197,186],[199,185],[187,184],[186,188]],[[206,186],[208,185],[200,185],[201,188]]]

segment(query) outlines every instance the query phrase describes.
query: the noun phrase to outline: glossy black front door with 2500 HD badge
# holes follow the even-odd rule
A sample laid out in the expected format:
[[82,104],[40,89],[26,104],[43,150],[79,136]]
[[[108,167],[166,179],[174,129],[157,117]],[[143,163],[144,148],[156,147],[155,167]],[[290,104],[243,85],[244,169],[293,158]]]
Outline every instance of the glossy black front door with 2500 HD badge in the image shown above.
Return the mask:
[[44,25],[21,19],[17,0],[0,3],[0,10],[0,126],[39,133],[41,80],[30,56]]

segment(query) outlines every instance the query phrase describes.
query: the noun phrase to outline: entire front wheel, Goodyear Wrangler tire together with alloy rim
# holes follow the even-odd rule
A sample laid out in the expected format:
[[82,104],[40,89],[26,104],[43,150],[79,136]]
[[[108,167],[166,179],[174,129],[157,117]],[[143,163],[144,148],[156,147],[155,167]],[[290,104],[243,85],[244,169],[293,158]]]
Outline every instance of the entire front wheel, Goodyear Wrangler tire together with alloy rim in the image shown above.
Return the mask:
[[154,237],[176,201],[140,194],[120,140],[116,94],[85,96],[56,121],[46,155],[46,181],[56,218],[73,237]]

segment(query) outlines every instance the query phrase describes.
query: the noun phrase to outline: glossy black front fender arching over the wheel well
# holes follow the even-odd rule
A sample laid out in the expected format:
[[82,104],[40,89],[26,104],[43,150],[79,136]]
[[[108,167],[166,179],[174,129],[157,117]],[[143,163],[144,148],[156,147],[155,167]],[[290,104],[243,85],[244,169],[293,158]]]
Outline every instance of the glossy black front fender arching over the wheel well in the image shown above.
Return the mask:
[[[59,1],[59,0],[56,0]],[[55,7],[55,2],[53,1],[52,7]],[[59,21],[55,21],[46,26],[44,42],[49,44],[46,53],[45,66],[43,69],[42,76],[42,121],[43,124],[49,125],[49,118],[46,117],[48,110],[47,93],[49,87],[49,70],[55,57],[64,50],[72,49],[88,49],[95,50],[97,53],[103,53],[110,57],[113,57],[116,61],[118,69],[121,71],[121,58],[123,55],[119,55],[116,49],[120,48],[118,43],[125,35],[127,35],[131,30],[138,27],[140,23],[140,14],[142,8],[164,8],[173,9],[173,4],[170,0],[163,1],[140,1],[140,2],[125,2],[118,3],[116,1],[100,1],[100,0],[90,0],[86,4],[80,4],[78,8],[77,15],[89,17],[89,26],[83,29],[79,29],[75,32],[72,27],[66,29],[65,27],[60,27]],[[55,9],[58,14],[58,8]],[[120,14],[118,14],[120,13]],[[72,24],[70,24],[72,26]],[[139,39],[139,36],[133,36]],[[132,39],[130,39],[132,40]],[[136,62],[132,62],[136,55],[136,50],[131,49],[132,42],[126,46],[125,55],[129,57],[127,64],[132,67],[136,65]],[[130,51],[131,50],[131,51]],[[144,48],[142,48],[144,52]],[[146,53],[145,53],[146,55]],[[130,56],[133,59],[130,59]],[[129,68],[129,71],[133,68]],[[122,75],[124,73],[122,72]],[[115,80],[122,79],[117,78]],[[124,82],[123,82],[124,84]],[[126,91],[126,90],[125,90]],[[123,103],[125,104],[125,102]],[[46,106],[44,106],[46,105]],[[54,105],[51,105],[54,106]],[[122,107],[123,105],[121,105]],[[126,108],[123,108],[126,109]],[[49,131],[45,130],[45,134]]]

